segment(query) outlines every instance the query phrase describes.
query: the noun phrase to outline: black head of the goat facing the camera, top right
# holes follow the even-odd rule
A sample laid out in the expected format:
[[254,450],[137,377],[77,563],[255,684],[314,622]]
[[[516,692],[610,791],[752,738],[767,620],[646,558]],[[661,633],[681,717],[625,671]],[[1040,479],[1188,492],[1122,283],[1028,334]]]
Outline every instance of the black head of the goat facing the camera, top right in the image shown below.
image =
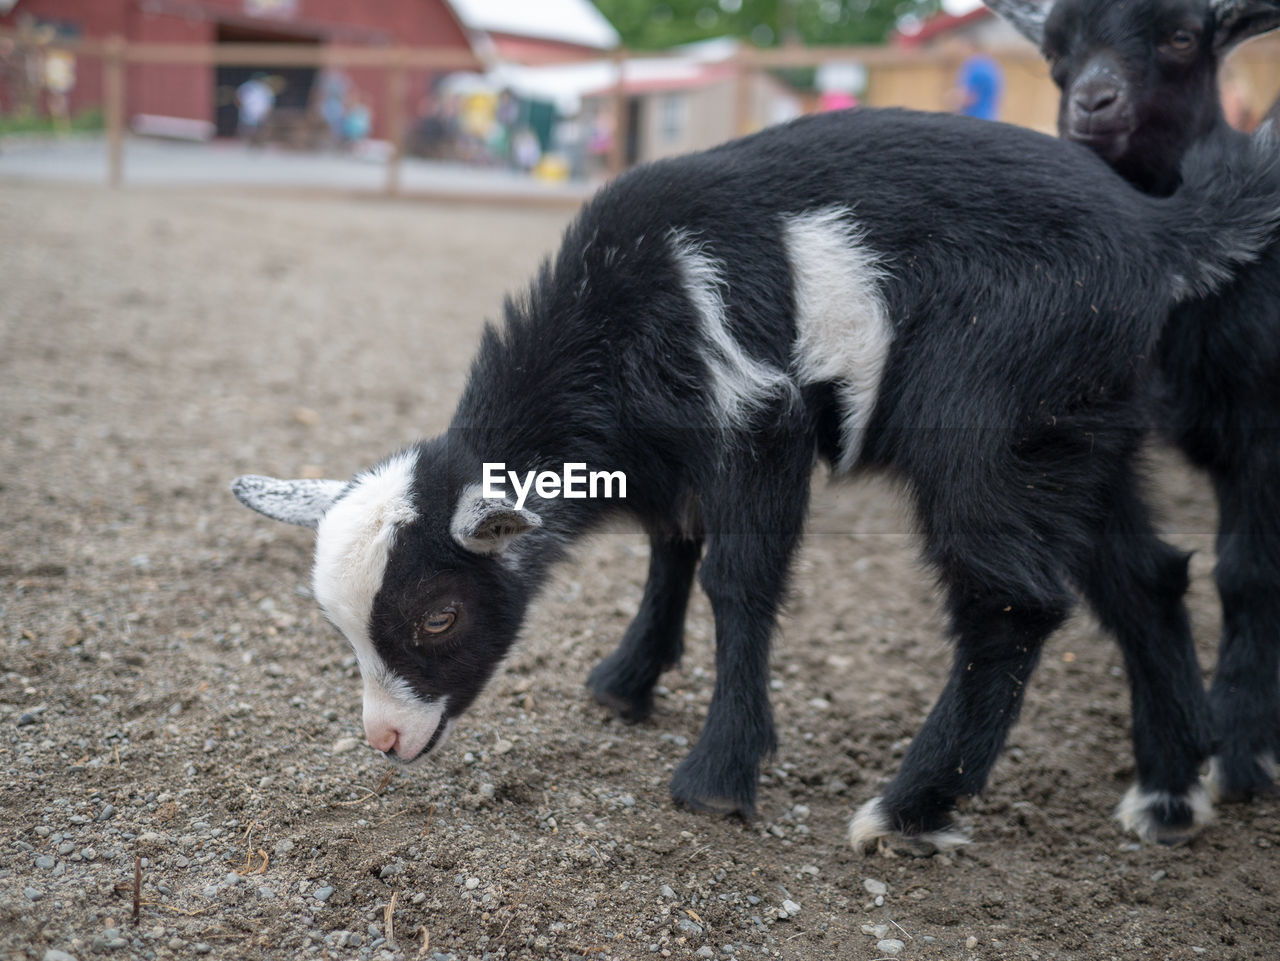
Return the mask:
[[1059,133],[1143,189],[1170,192],[1183,154],[1222,123],[1217,68],[1280,27],[1280,0],[987,0],[1036,44],[1062,91]]

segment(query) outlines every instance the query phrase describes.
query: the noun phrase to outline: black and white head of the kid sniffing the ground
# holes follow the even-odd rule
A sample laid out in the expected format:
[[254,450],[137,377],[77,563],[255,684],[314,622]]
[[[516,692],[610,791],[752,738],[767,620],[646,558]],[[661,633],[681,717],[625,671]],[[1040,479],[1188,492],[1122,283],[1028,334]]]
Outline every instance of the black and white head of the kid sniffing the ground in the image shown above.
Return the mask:
[[351,482],[232,485],[259,513],[316,530],[312,591],[356,651],[365,735],[404,763],[444,742],[509,650],[530,592],[515,545],[541,523],[440,480],[449,461],[426,444]]

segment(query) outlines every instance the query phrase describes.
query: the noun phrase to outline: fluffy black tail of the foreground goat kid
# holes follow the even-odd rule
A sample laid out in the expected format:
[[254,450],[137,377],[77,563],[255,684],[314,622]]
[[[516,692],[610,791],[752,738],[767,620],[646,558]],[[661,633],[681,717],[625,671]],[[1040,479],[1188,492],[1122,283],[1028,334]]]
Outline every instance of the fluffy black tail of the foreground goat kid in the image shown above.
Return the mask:
[[1158,201],[1157,223],[1179,264],[1174,297],[1207,297],[1280,243],[1280,141],[1211,138],[1188,151],[1183,184]]

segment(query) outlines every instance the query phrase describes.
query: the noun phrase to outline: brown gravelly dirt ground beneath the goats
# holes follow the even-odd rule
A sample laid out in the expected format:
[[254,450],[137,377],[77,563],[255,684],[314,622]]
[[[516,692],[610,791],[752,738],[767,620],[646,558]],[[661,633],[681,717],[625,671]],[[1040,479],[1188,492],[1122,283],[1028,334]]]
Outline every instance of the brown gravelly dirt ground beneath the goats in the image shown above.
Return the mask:
[[[1276,957],[1276,802],[1172,850],[1112,820],[1128,695],[1087,618],[966,807],[970,846],[850,850],[948,659],[878,482],[817,486],[758,823],[667,796],[710,695],[704,599],[652,722],[584,692],[640,596],[630,532],[559,569],[439,759],[364,745],[310,532],[227,484],[347,476],[442,429],[481,321],[568,215],[0,184],[0,957]],[[1156,468],[1210,669],[1212,503]]]

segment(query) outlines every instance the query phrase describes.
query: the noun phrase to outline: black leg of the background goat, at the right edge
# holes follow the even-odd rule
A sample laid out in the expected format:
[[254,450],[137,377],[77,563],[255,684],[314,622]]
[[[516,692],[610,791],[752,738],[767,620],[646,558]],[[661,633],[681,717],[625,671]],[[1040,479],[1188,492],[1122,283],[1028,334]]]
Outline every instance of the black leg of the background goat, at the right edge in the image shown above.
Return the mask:
[[[1245,454],[1262,459],[1275,439]],[[1280,470],[1215,479],[1222,640],[1210,688],[1217,751],[1208,787],[1222,801],[1275,795],[1280,759]]]

